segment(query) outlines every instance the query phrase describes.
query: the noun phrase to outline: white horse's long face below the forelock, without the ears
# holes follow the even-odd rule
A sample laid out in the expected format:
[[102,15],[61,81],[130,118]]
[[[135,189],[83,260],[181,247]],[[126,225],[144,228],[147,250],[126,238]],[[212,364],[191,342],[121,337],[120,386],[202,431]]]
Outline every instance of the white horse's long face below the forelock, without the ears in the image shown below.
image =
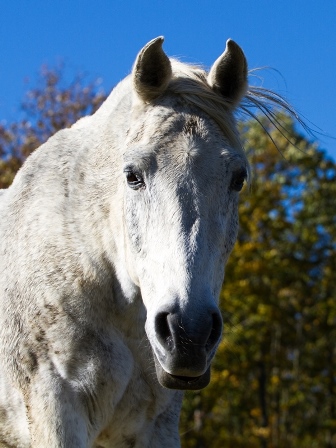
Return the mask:
[[168,98],[143,115],[124,154],[128,270],[147,310],[159,382],[200,389],[222,334],[218,296],[246,160],[196,108]]

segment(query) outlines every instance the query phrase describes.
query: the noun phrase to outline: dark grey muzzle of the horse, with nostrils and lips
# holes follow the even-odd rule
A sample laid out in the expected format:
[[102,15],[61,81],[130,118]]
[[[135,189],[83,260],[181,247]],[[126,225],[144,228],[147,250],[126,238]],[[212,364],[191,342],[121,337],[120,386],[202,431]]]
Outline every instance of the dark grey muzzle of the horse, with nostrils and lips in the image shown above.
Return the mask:
[[210,381],[210,363],[222,334],[218,308],[200,316],[160,310],[155,317],[156,374],[170,389],[202,389]]

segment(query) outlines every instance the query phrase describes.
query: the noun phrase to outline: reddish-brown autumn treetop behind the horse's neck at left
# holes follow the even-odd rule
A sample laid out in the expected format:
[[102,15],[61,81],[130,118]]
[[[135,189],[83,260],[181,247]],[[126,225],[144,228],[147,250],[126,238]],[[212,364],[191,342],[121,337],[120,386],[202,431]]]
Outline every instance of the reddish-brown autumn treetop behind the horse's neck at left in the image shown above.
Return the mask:
[[24,160],[51,135],[94,113],[105,100],[99,82],[78,75],[70,85],[62,67],[43,66],[38,86],[22,103],[21,121],[0,125],[0,188],[8,187]]

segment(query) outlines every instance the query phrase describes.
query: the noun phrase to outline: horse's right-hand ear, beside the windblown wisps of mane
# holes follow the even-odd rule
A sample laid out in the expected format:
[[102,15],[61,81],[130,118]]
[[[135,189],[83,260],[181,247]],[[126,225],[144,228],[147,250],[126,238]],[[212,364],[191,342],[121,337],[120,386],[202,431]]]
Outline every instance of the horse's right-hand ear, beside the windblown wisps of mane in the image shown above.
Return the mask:
[[224,53],[215,61],[208,84],[235,108],[247,90],[247,61],[243,50],[233,40],[226,42]]

